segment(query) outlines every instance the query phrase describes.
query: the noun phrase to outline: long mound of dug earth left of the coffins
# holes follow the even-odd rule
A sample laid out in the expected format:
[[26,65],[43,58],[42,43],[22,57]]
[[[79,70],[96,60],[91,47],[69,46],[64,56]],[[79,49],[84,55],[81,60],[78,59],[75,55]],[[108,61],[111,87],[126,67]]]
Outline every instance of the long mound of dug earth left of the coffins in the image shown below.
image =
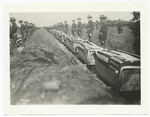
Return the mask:
[[45,29],[11,60],[11,104],[125,104],[82,67],[72,65]]

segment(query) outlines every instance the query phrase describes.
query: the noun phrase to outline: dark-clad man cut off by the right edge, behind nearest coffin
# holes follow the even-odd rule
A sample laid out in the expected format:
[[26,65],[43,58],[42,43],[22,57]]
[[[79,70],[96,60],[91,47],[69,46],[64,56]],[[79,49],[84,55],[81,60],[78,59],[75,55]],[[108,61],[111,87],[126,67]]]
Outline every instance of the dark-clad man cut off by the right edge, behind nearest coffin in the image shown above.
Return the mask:
[[133,50],[135,51],[135,54],[140,55],[140,12],[135,11],[132,13],[135,19],[134,22],[134,44],[133,44]]

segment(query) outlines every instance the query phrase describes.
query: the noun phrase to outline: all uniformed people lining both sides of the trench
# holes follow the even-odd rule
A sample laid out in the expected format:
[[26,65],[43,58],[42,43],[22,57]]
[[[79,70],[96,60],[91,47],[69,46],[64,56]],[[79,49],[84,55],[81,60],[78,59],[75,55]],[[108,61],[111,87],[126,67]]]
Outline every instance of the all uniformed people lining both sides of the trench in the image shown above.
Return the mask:
[[[140,12],[133,12],[133,19],[129,22],[123,21],[121,19],[118,20],[108,20],[107,16],[104,14],[100,15],[99,21],[94,22],[92,20],[92,16],[88,15],[87,20],[88,23],[82,23],[81,18],[77,18],[77,23],[75,19],[72,20],[71,32],[73,36],[82,37],[82,30],[86,28],[87,36],[89,41],[92,41],[94,28],[99,32],[99,41],[102,47],[105,48],[106,40],[107,40],[107,31],[109,27],[117,27],[118,34],[123,32],[122,27],[128,26],[131,32],[134,34],[134,44],[133,50],[135,54],[140,55]],[[22,46],[25,46],[26,40],[30,38],[30,35],[33,34],[35,29],[37,28],[35,24],[28,23],[27,21],[19,20],[20,26],[17,26],[16,19],[14,17],[10,18],[10,54],[13,55],[13,51],[16,47],[17,34],[20,34],[22,37]],[[54,24],[53,26],[45,27],[47,30],[60,30],[65,33],[69,31],[69,25],[65,20],[64,23],[60,22]]]

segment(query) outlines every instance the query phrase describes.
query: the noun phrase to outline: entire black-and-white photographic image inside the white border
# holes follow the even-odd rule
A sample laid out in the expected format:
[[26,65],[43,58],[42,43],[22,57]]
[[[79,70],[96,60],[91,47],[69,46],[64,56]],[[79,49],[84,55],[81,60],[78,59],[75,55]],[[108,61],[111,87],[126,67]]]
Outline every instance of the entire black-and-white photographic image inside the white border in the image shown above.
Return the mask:
[[11,105],[141,105],[139,11],[9,18]]

